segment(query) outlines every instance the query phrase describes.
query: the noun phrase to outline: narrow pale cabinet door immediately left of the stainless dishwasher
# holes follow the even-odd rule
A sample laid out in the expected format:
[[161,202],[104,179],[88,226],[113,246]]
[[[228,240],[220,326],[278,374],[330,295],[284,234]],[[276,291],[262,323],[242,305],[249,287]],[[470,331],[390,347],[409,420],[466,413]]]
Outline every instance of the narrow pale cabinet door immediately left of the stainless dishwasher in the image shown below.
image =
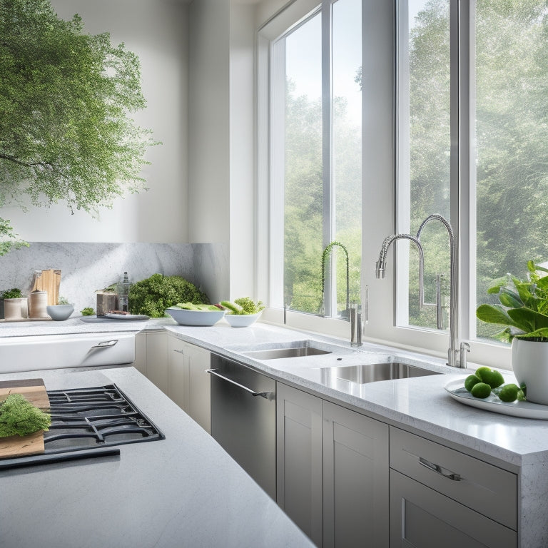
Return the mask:
[[210,368],[211,354],[196,345],[185,343],[188,356],[188,400],[186,412],[206,432],[211,432],[210,378],[205,372]]

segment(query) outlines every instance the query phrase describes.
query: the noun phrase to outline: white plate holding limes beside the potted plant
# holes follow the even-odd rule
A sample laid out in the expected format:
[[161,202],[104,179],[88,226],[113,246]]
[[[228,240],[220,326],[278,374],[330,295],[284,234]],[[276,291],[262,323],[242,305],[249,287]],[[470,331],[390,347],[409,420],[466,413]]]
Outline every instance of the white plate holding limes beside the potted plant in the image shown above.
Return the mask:
[[477,407],[486,411],[502,413],[503,415],[512,415],[512,417],[522,417],[524,419],[543,419],[548,420],[548,405],[540,405],[532,402],[503,402],[499,397],[490,395],[482,400],[474,397],[465,388],[465,380],[452,380],[445,385],[445,390],[457,402]]

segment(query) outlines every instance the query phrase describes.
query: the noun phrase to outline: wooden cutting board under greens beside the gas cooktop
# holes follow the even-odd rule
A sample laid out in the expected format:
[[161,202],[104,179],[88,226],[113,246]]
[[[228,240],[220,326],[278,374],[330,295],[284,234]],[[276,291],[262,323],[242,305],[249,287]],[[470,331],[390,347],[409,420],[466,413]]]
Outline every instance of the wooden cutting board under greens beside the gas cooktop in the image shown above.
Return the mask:
[[[10,394],[22,394],[43,411],[49,411],[49,397],[42,379],[6,380],[0,382],[0,400]],[[25,457],[44,452],[44,430],[28,436],[0,437],[0,459]]]

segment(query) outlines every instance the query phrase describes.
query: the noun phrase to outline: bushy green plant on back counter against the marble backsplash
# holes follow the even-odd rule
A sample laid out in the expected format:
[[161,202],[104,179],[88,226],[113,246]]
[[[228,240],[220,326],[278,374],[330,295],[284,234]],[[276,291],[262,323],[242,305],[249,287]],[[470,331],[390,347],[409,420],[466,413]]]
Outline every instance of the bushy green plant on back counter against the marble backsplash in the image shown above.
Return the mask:
[[128,306],[133,314],[162,318],[166,308],[177,303],[208,304],[209,300],[196,285],[181,276],[153,274],[133,283],[129,289]]

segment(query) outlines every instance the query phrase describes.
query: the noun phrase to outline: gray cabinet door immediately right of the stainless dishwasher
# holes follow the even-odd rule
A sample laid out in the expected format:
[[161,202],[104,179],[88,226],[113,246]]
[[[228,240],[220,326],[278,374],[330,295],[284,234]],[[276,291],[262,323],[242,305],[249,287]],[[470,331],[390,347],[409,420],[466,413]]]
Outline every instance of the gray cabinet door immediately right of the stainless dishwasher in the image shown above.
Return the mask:
[[322,546],[322,400],[278,382],[276,414],[277,502]]

